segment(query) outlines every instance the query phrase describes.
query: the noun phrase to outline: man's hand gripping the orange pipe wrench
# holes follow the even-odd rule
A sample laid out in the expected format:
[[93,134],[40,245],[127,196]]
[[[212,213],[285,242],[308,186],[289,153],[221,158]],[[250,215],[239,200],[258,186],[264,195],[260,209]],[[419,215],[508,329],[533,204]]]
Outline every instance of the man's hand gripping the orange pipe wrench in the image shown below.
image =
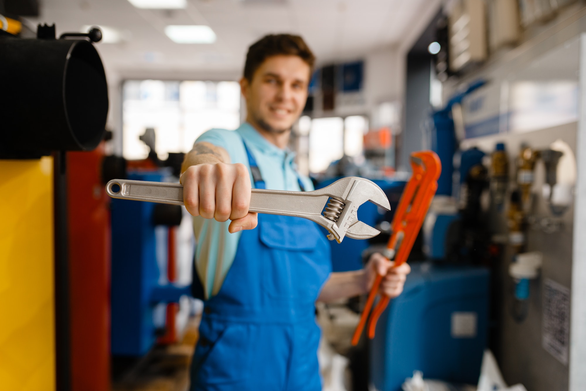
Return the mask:
[[368,292],[374,284],[376,276],[383,276],[379,292],[393,299],[401,294],[407,275],[411,273],[411,266],[407,263],[393,267],[394,262],[384,258],[380,253],[370,256],[369,262],[364,267],[365,290]]

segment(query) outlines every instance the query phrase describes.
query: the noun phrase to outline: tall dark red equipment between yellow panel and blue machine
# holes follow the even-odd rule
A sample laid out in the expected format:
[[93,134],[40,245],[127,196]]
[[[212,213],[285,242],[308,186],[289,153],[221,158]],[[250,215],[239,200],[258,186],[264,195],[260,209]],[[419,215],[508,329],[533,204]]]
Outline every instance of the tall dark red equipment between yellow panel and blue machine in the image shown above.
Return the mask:
[[71,390],[110,390],[110,197],[104,142],[67,153]]

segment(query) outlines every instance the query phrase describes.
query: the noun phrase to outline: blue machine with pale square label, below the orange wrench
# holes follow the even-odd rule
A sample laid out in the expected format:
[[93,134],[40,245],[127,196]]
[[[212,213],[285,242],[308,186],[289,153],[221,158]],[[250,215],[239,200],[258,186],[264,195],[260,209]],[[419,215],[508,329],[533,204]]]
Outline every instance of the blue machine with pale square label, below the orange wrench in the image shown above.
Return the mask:
[[411,265],[401,296],[381,315],[370,342],[370,379],[399,391],[413,371],[476,384],[486,347],[489,272],[470,266]]

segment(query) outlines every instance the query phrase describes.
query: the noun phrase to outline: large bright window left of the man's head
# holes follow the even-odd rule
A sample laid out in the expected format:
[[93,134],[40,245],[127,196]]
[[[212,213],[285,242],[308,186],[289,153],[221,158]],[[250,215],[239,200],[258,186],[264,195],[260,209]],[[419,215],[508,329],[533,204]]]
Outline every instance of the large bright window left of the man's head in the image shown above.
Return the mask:
[[155,129],[160,159],[169,152],[189,152],[196,138],[211,128],[240,125],[240,85],[234,81],[127,80],[122,98],[122,154],[145,159],[139,140]]

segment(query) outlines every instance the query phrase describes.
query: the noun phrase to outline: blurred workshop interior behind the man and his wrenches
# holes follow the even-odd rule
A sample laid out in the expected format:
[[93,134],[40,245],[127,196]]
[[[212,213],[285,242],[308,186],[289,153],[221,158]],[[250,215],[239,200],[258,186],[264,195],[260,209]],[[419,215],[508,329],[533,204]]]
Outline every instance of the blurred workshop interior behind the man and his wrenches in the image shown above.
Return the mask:
[[[0,0],[0,28],[0,389],[188,390],[191,217],[104,186],[178,182],[246,118],[248,46],[292,33],[317,59],[299,172],[392,207],[362,207],[381,234],[333,242],[334,271],[386,245],[412,153],[442,165],[374,339],[350,344],[364,297],[316,305],[323,390],[586,390],[584,0]],[[61,104],[76,56],[94,87]]]

